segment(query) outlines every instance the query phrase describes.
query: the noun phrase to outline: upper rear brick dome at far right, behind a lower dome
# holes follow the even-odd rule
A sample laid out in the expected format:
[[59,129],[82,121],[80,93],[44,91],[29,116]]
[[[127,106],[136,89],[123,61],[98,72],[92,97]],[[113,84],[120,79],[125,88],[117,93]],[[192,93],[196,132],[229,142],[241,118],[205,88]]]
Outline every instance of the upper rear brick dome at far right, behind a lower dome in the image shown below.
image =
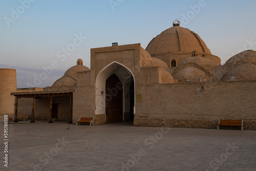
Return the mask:
[[228,71],[244,63],[253,63],[256,65],[256,51],[247,50],[232,56],[225,63],[225,70]]

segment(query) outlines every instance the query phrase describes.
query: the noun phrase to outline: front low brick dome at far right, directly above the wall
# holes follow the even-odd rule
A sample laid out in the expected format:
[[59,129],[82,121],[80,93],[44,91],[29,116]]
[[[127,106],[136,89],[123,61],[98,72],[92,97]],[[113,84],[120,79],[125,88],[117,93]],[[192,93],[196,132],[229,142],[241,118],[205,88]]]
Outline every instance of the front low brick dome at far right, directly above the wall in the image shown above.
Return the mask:
[[231,77],[234,80],[256,80],[256,65],[245,63],[233,68],[222,77],[222,81],[228,81]]

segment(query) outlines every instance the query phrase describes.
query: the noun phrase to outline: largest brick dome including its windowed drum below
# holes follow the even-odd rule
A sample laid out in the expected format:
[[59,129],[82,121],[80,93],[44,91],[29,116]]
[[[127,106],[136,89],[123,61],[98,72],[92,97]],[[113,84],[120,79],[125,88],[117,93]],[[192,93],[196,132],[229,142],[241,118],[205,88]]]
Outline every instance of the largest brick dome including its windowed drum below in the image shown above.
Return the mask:
[[146,51],[164,61],[169,68],[176,68],[182,60],[192,56],[201,56],[221,65],[221,59],[211,54],[197,33],[175,24],[153,38]]

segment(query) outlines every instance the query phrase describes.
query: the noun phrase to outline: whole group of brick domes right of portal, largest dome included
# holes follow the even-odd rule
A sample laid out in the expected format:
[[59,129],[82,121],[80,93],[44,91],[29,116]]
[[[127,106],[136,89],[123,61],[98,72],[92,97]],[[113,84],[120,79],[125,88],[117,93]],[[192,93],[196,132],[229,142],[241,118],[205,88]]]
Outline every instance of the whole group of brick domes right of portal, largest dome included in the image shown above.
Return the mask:
[[230,77],[234,77],[233,80],[256,80],[255,51],[234,55],[221,66],[220,58],[211,54],[199,35],[179,27],[178,20],[174,27],[153,38],[146,51],[152,56],[151,66],[157,63],[172,74],[175,82],[198,82],[199,78],[201,81],[226,81]]

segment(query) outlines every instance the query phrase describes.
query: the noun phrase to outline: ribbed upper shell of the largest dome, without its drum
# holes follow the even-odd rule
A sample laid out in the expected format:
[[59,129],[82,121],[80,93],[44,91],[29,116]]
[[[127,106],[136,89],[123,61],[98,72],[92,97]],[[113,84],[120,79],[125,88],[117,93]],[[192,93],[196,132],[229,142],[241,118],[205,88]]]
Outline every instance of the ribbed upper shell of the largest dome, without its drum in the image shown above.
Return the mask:
[[193,52],[211,54],[205,42],[199,35],[189,29],[175,26],[171,27],[157,37],[153,38],[148,44],[148,53],[167,53],[167,52]]

